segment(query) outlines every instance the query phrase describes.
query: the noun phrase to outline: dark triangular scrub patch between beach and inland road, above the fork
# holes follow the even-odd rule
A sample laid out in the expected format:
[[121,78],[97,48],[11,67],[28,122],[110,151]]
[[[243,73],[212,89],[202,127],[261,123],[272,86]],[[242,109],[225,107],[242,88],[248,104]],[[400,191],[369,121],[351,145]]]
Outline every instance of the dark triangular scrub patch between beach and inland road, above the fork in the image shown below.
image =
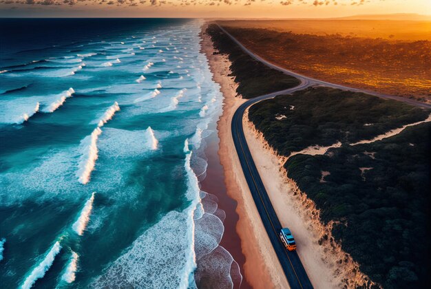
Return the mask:
[[207,28],[215,48],[220,54],[229,54],[232,76],[238,83],[237,93],[253,98],[299,85],[297,78],[267,67],[242,51],[217,25]]

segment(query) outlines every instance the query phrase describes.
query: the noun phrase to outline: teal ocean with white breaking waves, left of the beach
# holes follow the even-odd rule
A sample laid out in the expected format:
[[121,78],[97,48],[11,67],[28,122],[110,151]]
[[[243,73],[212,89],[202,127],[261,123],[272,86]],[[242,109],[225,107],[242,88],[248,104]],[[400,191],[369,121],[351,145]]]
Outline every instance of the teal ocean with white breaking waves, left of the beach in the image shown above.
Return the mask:
[[0,19],[3,288],[241,282],[200,190],[220,87],[195,19]]

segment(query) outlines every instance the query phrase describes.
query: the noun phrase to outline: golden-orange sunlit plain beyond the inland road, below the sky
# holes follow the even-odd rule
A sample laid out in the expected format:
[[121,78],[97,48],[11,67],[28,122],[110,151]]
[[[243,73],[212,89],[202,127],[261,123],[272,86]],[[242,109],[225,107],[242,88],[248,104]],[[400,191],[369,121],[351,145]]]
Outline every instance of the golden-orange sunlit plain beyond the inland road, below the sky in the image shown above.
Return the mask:
[[431,103],[429,21],[220,21],[253,52],[313,78]]

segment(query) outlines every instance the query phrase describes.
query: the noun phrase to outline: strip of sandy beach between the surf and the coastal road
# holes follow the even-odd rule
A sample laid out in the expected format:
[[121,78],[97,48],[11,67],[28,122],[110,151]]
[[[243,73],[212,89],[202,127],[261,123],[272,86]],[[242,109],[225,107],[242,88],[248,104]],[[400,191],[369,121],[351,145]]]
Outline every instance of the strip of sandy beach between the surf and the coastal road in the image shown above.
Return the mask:
[[266,235],[260,215],[249,191],[238,155],[231,136],[231,119],[235,110],[246,100],[236,96],[237,85],[231,71],[230,61],[226,55],[213,54],[213,44],[204,31],[207,23],[202,25],[202,53],[207,56],[213,74],[213,81],[220,85],[223,98],[223,111],[217,122],[220,138],[218,155],[224,169],[224,184],[227,195],[237,202],[238,223],[236,232],[240,236],[241,249],[245,257],[244,281],[253,288],[289,288],[286,276],[277,255]]

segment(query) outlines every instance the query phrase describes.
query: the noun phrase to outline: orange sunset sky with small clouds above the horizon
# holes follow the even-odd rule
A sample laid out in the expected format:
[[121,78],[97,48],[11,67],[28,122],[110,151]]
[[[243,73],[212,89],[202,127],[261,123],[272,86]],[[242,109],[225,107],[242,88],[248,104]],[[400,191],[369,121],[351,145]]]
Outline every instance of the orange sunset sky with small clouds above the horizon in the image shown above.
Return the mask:
[[0,0],[0,17],[328,18],[431,14],[431,0]]

